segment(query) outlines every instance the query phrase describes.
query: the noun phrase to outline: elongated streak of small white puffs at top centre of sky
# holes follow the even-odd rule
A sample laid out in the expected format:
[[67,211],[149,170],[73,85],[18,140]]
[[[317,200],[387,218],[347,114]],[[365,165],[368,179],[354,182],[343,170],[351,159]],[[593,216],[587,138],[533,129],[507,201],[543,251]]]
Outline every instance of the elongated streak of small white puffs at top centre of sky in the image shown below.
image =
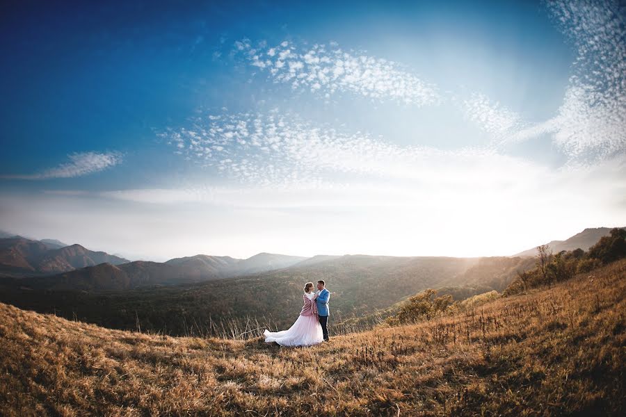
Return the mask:
[[391,60],[344,51],[335,42],[312,47],[283,41],[274,47],[252,47],[250,40],[235,42],[236,53],[248,63],[267,72],[275,83],[294,90],[310,90],[330,97],[353,93],[377,101],[396,101],[413,106],[438,104],[437,87],[423,81]]

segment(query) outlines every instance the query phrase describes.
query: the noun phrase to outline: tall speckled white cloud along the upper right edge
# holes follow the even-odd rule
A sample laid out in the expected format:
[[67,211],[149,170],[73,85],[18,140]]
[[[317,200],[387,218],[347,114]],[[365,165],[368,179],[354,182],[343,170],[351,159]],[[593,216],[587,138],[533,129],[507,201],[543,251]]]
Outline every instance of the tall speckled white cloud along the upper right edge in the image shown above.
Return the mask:
[[626,154],[626,15],[618,1],[551,1],[549,11],[577,58],[563,104],[552,119],[525,126],[505,141],[552,133],[570,164]]

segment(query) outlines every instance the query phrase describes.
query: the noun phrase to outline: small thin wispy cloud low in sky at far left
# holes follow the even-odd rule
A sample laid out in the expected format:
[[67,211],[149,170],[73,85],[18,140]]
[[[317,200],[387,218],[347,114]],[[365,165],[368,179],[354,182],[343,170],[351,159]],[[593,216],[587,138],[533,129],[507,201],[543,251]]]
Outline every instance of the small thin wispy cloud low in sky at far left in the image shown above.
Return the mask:
[[70,162],[58,165],[37,174],[3,175],[4,179],[51,179],[72,178],[93,174],[122,163],[122,155],[118,152],[83,152],[67,155]]

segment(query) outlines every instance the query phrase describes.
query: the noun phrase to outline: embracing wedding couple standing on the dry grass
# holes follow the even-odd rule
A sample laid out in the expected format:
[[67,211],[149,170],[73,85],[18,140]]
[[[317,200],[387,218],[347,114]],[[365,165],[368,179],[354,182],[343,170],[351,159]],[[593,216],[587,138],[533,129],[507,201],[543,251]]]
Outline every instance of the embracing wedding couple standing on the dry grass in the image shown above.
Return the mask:
[[265,341],[276,342],[282,346],[312,346],[328,342],[328,299],[330,291],[323,280],[317,281],[317,290],[313,291],[313,283],[305,284],[302,296],[304,306],[296,322],[287,330],[280,332],[264,332]]

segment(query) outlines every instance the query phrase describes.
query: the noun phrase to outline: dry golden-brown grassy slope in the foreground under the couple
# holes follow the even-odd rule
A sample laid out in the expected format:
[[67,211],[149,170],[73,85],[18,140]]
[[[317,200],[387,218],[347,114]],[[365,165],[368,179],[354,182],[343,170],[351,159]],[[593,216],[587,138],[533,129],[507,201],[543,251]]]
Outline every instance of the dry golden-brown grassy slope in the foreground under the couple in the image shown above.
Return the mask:
[[0,414],[623,415],[626,260],[593,275],[291,349],[0,304]]

